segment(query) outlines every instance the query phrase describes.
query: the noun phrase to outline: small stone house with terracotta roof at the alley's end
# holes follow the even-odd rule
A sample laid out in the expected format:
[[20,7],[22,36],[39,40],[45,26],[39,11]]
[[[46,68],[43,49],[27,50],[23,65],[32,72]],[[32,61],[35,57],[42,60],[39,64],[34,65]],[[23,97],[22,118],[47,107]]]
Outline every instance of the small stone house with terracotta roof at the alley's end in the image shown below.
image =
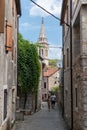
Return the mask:
[[42,99],[47,100],[49,93],[54,87],[59,86],[58,68],[47,68],[43,72]]

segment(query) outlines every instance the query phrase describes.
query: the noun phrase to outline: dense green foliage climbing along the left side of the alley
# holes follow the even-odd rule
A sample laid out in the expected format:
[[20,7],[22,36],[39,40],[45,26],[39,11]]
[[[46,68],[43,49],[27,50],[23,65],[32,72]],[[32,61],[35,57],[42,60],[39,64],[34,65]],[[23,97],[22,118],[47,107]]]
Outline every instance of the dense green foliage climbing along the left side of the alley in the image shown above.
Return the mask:
[[22,93],[36,93],[39,85],[40,62],[35,44],[18,36],[18,86]]

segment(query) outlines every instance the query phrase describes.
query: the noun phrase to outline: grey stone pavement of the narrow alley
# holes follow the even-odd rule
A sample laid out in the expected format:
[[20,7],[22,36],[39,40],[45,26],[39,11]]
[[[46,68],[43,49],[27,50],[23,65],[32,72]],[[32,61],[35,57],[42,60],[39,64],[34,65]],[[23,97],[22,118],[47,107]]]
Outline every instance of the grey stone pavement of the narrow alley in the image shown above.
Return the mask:
[[51,109],[49,112],[47,103],[44,102],[41,111],[25,116],[24,121],[16,123],[15,130],[67,130],[67,128],[57,105],[55,109]]

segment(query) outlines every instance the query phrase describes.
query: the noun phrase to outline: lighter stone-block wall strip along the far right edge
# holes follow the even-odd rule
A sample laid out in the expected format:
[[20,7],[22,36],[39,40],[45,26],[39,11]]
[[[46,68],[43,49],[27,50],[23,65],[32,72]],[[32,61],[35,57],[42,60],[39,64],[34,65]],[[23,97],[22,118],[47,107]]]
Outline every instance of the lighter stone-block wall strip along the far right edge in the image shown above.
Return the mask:
[[81,66],[82,66],[82,104],[83,104],[83,130],[87,129],[87,4],[82,5],[80,13],[81,25]]

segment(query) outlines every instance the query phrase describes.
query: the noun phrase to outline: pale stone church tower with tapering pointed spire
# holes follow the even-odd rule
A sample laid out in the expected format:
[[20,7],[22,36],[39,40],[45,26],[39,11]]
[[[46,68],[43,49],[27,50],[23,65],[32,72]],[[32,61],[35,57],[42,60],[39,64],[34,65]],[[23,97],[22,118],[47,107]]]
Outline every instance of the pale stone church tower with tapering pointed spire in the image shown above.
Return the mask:
[[38,38],[39,56],[43,58],[43,62],[48,66],[48,41],[45,34],[44,19],[42,18],[40,35]]

